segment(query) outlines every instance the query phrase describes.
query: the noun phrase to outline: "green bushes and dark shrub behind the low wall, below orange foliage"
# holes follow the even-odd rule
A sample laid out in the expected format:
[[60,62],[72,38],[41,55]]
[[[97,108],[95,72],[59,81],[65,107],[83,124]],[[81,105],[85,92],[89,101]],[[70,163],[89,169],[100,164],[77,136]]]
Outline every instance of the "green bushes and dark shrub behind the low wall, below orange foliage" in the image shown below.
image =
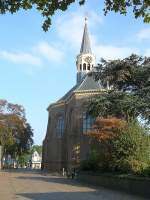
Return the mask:
[[[87,161],[88,169],[98,166],[104,172],[143,174],[150,166],[150,136],[137,121],[115,130],[114,137],[99,140],[95,145],[96,159]],[[93,157],[94,158],[94,157]]]

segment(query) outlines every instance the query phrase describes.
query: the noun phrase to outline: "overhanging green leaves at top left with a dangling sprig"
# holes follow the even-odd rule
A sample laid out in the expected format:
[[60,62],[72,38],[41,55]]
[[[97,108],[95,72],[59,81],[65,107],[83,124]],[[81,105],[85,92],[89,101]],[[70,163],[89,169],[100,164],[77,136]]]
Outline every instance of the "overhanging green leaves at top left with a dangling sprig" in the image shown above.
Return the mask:
[[[0,1],[0,13],[5,14],[10,12],[14,14],[19,10],[31,10],[36,9],[44,18],[43,30],[47,31],[51,25],[51,17],[55,14],[56,11],[67,10],[68,6],[75,2],[75,0],[8,0]],[[78,1],[81,4],[84,3],[84,0]]]

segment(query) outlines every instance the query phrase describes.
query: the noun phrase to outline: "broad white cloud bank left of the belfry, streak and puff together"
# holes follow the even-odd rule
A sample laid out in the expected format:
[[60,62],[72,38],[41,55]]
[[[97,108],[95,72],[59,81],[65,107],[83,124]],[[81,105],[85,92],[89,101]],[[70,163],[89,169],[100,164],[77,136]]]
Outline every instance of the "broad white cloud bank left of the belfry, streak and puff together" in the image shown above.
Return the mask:
[[0,59],[17,64],[20,69],[32,74],[34,71],[42,70],[47,66],[46,62],[48,64],[56,63],[55,66],[57,66],[58,63],[63,61],[64,53],[59,47],[54,47],[47,42],[39,42],[26,52],[0,50]]

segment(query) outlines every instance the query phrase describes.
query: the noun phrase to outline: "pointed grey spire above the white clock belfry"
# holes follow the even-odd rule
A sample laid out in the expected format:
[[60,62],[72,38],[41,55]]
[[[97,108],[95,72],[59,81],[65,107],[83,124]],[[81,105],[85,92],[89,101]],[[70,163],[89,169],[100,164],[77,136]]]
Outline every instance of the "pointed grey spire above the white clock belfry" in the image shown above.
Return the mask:
[[84,26],[84,33],[83,33],[80,53],[83,53],[83,54],[91,53],[92,54],[89,33],[88,33],[88,27],[87,27],[87,18],[85,18],[85,26]]

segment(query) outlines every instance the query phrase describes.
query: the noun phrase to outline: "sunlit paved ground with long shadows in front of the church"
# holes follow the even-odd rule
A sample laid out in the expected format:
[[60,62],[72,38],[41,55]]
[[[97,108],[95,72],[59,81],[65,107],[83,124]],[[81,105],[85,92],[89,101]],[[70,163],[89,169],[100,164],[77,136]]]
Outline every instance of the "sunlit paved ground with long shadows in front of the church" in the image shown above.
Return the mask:
[[0,172],[0,200],[144,200],[31,171]]

